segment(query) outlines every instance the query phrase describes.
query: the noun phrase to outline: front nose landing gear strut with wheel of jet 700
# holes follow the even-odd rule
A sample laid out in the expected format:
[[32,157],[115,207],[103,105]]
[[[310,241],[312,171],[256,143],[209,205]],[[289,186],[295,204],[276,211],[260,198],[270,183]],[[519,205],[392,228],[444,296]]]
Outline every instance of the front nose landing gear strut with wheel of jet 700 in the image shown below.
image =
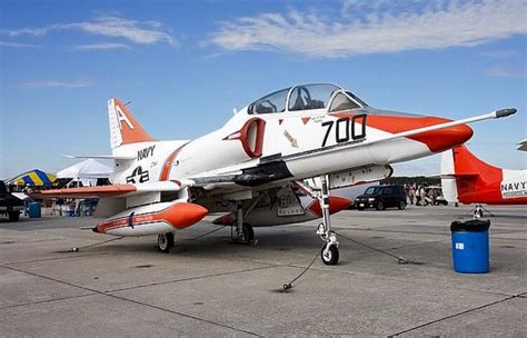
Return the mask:
[[322,222],[318,226],[317,235],[326,243],[322,247],[320,257],[327,266],[335,266],[339,259],[337,233],[331,230],[329,218],[329,190],[326,175],[320,176],[321,197],[320,209],[322,209]]

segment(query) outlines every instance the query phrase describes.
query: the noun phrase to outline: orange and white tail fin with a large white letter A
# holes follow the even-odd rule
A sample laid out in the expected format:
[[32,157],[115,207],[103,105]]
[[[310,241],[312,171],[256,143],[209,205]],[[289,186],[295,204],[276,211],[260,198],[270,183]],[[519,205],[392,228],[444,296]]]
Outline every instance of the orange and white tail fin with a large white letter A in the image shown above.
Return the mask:
[[112,150],[121,145],[156,141],[142,129],[141,125],[119,99],[108,101],[108,118],[110,120],[110,146]]

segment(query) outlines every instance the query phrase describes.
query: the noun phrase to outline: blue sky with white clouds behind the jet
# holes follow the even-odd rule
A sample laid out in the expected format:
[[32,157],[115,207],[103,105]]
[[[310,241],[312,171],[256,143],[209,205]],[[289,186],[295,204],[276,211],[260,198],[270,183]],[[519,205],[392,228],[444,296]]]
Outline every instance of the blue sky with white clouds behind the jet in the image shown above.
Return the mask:
[[[377,108],[466,118],[469,147],[527,167],[527,2],[0,2],[0,178],[63,155],[109,153],[107,100],[159,139],[219,128],[232,108],[301,82],[335,82]],[[396,166],[439,172],[439,157]]]

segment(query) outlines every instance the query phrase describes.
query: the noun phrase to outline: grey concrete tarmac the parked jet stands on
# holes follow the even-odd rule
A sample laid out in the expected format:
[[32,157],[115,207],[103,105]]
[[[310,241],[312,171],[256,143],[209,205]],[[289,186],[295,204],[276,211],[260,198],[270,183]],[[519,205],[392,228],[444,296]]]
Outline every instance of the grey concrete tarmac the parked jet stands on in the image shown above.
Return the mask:
[[457,274],[449,225],[470,209],[339,212],[331,267],[318,221],[256,228],[255,246],[203,221],[167,255],[79,230],[89,217],[1,219],[0,336],[526,337],[527,208],[490,207],[491,270]]

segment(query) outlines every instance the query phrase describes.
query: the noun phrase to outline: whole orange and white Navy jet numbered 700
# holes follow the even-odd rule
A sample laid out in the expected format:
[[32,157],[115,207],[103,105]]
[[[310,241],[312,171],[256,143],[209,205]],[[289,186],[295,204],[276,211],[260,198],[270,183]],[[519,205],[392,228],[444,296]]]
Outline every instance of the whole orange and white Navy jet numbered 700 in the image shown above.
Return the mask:
[[[158,235],[168,251],[173,231],[209,212],[232,226],[237,240],[252,227],[322,217],[322,261],[336,265],[338,241],[329,215],[350,201],[328,190],[379,180],[390,163],[430,156],[473,136],[468,122],[516,112],[503,109],[451,121],[379,110],[334,84],[282,89],[245,107],[220,129],[192,141],[159,141],[118,99],[108,102],[113,186],[43,191],[43,197],[100,197],[93,228],[116,236]],[[321,192],[301,183],[320,178]]]

